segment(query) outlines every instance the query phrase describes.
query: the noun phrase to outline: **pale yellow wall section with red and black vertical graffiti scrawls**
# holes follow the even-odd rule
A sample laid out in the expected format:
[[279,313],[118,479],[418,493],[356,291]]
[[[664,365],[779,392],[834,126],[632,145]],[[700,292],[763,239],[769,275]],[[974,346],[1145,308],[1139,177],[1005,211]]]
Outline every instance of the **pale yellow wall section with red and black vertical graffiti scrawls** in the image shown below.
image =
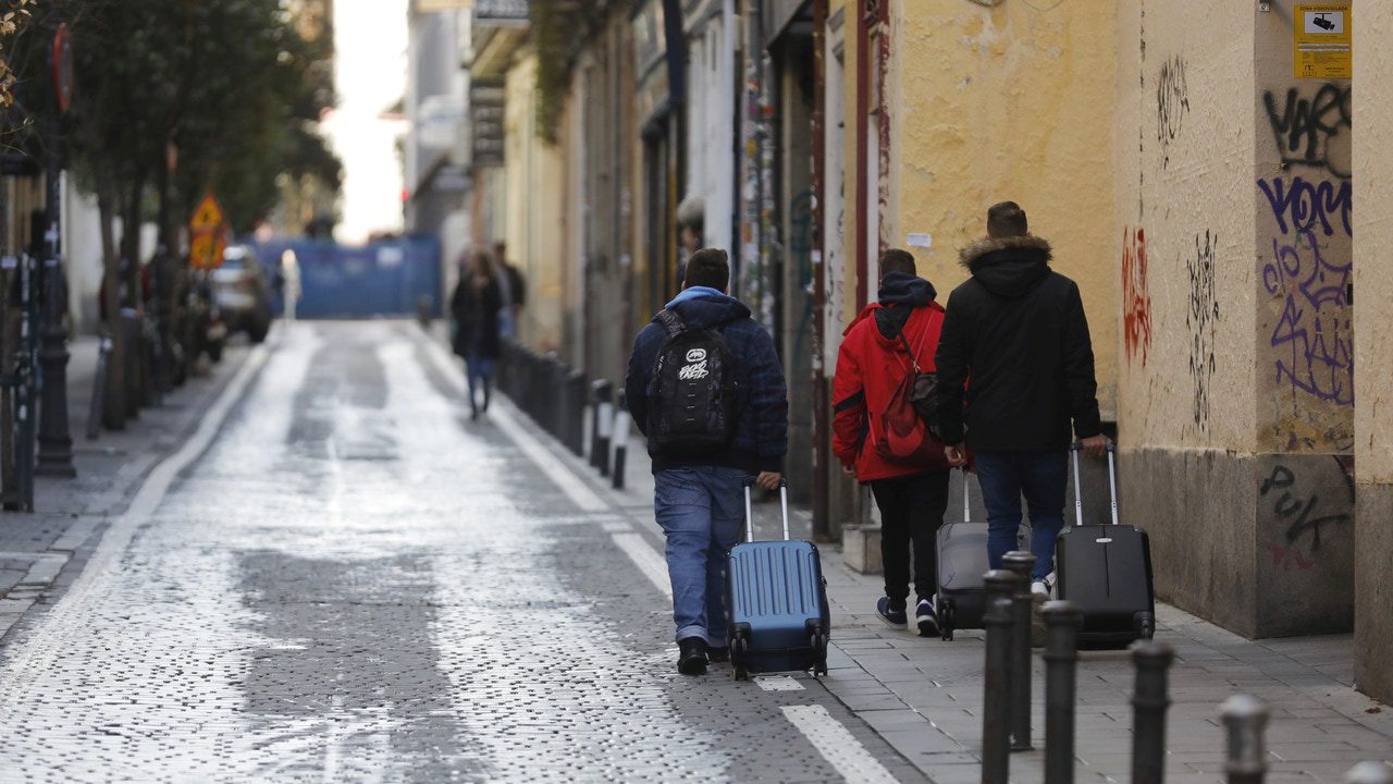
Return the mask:
[[[1121,442],[1252,452],[1256,8],[1172,0],[1117,13],[1107,258]],[[1195,20],[1223,35],[1197,38]]]

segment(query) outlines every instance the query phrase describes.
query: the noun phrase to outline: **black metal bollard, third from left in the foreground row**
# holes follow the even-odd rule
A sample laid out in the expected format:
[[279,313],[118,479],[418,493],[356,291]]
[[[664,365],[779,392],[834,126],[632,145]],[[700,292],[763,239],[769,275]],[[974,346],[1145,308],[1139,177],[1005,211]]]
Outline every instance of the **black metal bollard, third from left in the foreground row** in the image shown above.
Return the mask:
[[1049,601],[1041,610],[1045,642],[1045,784],[1074,784],[1074,706],[1078,629],[1084,614],[1073,601]]

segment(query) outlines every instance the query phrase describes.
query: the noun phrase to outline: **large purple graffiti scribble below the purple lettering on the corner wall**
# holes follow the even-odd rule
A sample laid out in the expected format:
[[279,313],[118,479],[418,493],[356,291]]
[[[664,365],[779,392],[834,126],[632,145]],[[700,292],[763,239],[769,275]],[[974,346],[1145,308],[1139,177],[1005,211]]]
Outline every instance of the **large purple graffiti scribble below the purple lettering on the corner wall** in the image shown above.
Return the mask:
[[1269,294],[1286,299],[1272,347],[1290,350],[1276,361],[1277,382],[1290,384],[1293,395],[1353,406],[1354,336],[1346,294],[1353,264],[1326,261],[1312,232],[1302,232],[1297,246],[1272,240],[1272,257],[1262,283]]

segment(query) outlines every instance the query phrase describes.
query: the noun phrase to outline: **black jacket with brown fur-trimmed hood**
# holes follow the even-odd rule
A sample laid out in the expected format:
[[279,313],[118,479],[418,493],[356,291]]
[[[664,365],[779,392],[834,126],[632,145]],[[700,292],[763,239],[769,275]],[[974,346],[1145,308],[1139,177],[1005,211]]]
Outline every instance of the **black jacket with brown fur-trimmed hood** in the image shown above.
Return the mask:
[[[949,296],[935,356],[939,427],[974,451],[1064,449],[1102,432],[1094,346],[1078,285],[1049,268],[1039,237],[961,252],[972,273]],[[967,384],[964,412],[964,384]]]

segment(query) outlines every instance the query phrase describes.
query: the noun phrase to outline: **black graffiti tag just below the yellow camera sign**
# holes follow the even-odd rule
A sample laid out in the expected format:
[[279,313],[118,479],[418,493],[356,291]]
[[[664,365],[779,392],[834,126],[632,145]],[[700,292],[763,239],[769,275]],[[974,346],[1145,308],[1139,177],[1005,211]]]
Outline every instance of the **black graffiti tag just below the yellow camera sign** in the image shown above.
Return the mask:
[[1343,180],[1350,179],[1344,156],[1332,155],[1333,142],[1350,128],[1351,91],[1348,85],[1326,84],[1311,98],[1298,88],[1287,89],[1286,102],[1268,91],[1262,96],[1268,107],[1268,121],[1282,151],[1282,167],[1291,165],[1325,169]]

